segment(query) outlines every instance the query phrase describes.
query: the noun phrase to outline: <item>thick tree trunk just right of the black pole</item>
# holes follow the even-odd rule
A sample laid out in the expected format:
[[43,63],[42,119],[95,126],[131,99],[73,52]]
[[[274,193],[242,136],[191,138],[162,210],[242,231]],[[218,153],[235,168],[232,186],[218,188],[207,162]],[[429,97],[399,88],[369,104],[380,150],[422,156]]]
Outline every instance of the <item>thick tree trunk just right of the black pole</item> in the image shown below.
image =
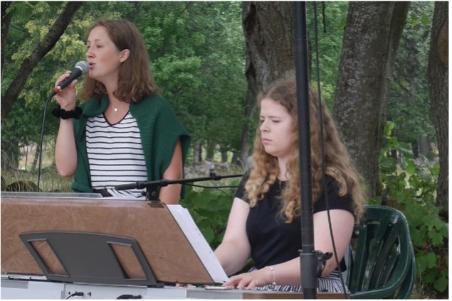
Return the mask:
[[334,118],[358,170],[376,194],[391,73],[409,1],[350,1]]

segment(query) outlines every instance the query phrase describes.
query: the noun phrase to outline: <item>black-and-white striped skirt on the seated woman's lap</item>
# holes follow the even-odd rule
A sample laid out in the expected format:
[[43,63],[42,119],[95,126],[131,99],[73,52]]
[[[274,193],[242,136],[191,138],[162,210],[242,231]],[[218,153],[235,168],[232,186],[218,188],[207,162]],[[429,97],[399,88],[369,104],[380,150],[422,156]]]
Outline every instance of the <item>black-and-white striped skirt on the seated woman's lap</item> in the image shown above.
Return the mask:
[[[317,292],[344,292],[344,286],[340,280],[340,274],[337,270],[333,271],[327,277],[318,278]],[[253,290],[272,290],[276,292],[303,292],[301,285],[264,285],[253,288]],[[349,294],[347,285],[345,292]]]

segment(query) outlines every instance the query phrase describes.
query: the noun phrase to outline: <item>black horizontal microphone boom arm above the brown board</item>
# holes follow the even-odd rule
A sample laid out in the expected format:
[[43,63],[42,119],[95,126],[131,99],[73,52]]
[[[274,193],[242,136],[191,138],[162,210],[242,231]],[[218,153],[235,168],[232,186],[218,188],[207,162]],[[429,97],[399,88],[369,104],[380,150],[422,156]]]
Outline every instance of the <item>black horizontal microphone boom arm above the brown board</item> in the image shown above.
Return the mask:
[[191,179],[180,179],[180,180],[157,180],[157,181],[142,181],[130,184],[123,184],[115,186],[115,190],[130,190],[130,189],[143,189],[146,188],[146,199],[151,202],[160,202],[159,200],[159,187],[164,187],[172,184],[184,184],[191,182],[200,182],[208,180],[221,180],[228,177],[243,177],[242,175],[216,175],[213,170],[210,171],[209,177],[195,177]]

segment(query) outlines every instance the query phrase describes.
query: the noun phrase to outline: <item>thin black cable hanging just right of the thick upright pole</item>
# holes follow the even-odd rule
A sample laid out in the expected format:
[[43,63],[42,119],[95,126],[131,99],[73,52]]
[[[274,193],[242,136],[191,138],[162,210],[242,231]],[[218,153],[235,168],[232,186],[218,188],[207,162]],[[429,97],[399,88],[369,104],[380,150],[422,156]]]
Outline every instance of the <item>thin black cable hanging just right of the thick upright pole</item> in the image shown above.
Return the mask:
[[[319,48],[318,48],[318,28],[317,28],[317,4],[314,1],[314,28],[315,28],[315,60],[316,60],[316,67],[317,67],[317,94],[318,94],[318,106],[319,106],[319,124],[320,124],[320,155],[322,158],[322,188],[323,188],[323,194],[325,195],[325,204],[327,207],[327,216],[328,216],[328,226],[330,229],[330,237],[332,241],[332,249],[333,253],[335,255],[335,261],[337,268],[339,270],[339,277],[342,284],[342,288],[344,289],[344,296],[345,299],[348,299],[349,296],[347,295],[347,290],[345,289],[345,283],[344,278],[342,277],[342,270],[340,267],[339,258],[337,258],[337,252],[336,252],[336,243],[335,243],[335,237],[332,233],[332,224],[331,224],[331,216],[330,216],[330,202],[328,200],[328,193],[327,193],[327,180],[326,180],[326,166],[325,166],[325,145],[323,143],[323,118],[322,118],[322,92],[320,90],[320,59],[319,59]],[[325,5],[325,4],[324,4]],[[325,11],[325,8],[323,9]],[[325,16],[324,16],[325,17]]]

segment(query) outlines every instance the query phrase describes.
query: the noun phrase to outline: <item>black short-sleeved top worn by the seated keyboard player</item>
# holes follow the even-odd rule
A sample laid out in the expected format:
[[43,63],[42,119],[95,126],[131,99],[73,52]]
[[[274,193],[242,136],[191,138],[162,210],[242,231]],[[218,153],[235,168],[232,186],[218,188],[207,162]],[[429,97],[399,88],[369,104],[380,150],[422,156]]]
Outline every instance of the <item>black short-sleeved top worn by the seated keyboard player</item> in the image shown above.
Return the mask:
[[[236,197],[245,202],[245,184],[249,173],[243,176]],[[276,180],[270,187],[265,197],[258,201],[255,207],[250,208],[246,220],[246,234],[251,245],[251,258],[256,268],[264,268],[278,263],[289,261],[300,256],[301,249],[301,221],[295,218],[291,224],[287,224],[281,217],[279,196],[285,186],[285,182]],[[327,176],[327,199],[330,209],[344,209],[354,214],[353,201],[350,195],[340,197],[338,195],[339,185],[330,176]],[[313,212],[327,210],[325,195],[322,193],[320,199],[315,202]],[[330,235],[325,231],[325,235]],[[321,250],[320,250],[321,251]],[[334,260],[334,259],[331,259]],[[341,270],[345,270],[341,263]]]

